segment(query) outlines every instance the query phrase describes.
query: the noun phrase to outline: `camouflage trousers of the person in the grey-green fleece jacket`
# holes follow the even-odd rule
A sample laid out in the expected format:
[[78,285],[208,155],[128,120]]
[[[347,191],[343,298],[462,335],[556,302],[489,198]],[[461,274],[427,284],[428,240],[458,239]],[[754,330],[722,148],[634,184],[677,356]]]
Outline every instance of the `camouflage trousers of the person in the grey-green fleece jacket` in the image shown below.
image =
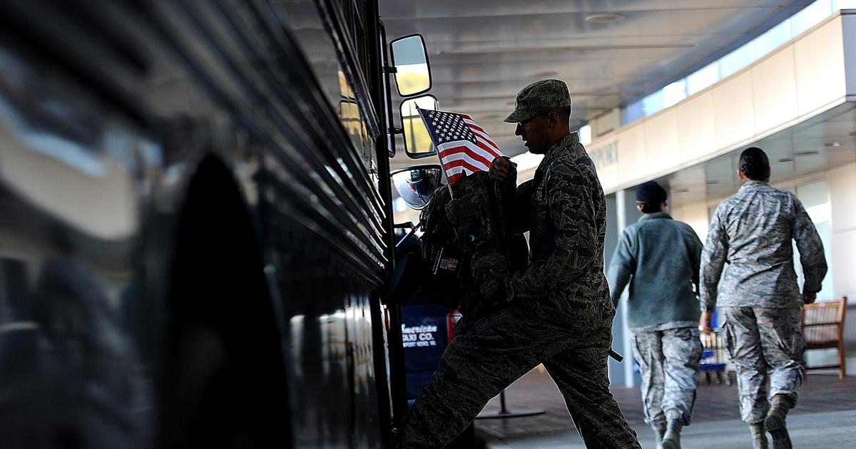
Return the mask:
[[690,423],[701,352],[697,328],[633,335],[633,357],[642,375],[645,422],[678,419],[684,425]]

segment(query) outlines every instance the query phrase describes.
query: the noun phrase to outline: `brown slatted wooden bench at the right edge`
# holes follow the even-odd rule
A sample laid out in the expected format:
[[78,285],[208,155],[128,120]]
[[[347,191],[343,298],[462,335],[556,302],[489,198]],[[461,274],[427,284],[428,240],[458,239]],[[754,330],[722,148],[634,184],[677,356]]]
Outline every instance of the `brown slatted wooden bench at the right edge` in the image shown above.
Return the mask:
[[847,297],[841,301],[806,304],[802,310],[802,332],[805,349],[838,348],[838,364],[805,367],[809,369],[838,369],[838,377],[847,375],[844,360],[844,316],[847,315]]

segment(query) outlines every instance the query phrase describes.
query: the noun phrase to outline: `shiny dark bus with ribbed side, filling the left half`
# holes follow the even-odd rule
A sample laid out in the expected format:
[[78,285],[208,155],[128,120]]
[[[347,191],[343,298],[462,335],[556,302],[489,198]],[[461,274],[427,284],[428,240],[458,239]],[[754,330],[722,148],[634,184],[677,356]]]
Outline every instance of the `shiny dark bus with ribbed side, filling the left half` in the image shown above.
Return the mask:
[[377,9],[0,2],[4,449],[390,445]]

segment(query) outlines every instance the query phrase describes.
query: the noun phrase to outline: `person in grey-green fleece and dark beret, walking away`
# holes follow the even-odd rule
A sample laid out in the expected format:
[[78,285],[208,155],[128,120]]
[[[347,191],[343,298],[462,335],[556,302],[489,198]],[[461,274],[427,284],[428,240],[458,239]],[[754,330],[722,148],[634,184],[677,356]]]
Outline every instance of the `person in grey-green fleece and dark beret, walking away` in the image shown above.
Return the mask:
[[702,352],[697,293],[702,245],[693,228],[673,220],[667,207],[666,191],[657,182],[636,189],[636,209],[645,215],[621,234],[607,279],[615,305],[631,284],[628,319],[645,422],[654,429],[658,448],[680,449],[681,428],[693,414]]

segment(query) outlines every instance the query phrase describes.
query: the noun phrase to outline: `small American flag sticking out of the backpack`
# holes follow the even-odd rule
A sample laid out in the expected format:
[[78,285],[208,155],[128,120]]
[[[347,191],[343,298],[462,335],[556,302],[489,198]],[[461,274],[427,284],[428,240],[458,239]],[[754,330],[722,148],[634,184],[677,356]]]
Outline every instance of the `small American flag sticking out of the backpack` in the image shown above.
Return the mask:
[[487,171],[490,162],[502,156],[499,146],[469,115],[426,109],[419,109],[419,115],[440,153],[449,182],[455,182],[463,174]]

